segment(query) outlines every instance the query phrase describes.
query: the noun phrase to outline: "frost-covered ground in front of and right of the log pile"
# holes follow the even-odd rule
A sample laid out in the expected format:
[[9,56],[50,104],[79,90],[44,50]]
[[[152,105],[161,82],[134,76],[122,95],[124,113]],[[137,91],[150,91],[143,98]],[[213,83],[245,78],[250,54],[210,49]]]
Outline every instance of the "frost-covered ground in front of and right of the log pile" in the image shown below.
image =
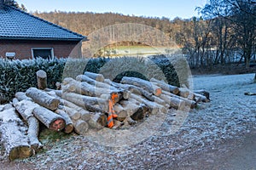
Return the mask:
[[[179,119],[177,119],[178,113],[169,111],[157,133],[143,140],[134,138],[135,142],[133,141],[132,145],[107,147],[91,141],[86,136],[73,135],[55,144],[45,143],[47,150],[26,160],[9,162],[2,157],[0,167],[1,169],[207,169],[208,165],[208,168],[219,169],[222,165],[215,162],[221,160],[216,161],[211,156],[220,156],[220,151],[230,154],[235,146],[241,146],[240,150],[242,150],[242,145],[246,144],[243,142],[244,139],[249,138],[248,141],[251,139],[247,134],[256,131],[256,96],[244,95],[245,92],[256,93],[253,77],[253,74],[195,77],[195,89],[208,90],[211,94],[211,102],[199,105],[195,110],[189,111],[188,116],[184,115]],[[170,133],[173,132],[173,125],[178,125],[180,120],[183,126],[177,128],[175,133]],[[148,129],[148,133],[149,131],[151,129]],[[137,133],[137,135],[143,134]],[[247,145],[255,147],[255,144]],[[249,147],[247,150],[253,148]],[[204,153],[205,159],[201,157],[201,153]],[[239,156],[235,160],[239,160]],[[233,165],[234,160],[229,161],[230,163],[225,165],[227,169],[230,169],[229,166]],[[254,165],[252,163],[250,166],[255,169]],[[232,167],[232,169],[239,168]]]

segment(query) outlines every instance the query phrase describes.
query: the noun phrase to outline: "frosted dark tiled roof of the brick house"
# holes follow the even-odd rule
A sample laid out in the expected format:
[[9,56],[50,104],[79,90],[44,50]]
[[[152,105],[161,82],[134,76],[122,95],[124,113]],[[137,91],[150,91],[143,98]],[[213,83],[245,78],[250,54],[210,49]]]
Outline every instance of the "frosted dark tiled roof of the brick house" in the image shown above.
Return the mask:
[[5,6],[0,9],[0,39],[80,41],[84,36],[20,9]]

